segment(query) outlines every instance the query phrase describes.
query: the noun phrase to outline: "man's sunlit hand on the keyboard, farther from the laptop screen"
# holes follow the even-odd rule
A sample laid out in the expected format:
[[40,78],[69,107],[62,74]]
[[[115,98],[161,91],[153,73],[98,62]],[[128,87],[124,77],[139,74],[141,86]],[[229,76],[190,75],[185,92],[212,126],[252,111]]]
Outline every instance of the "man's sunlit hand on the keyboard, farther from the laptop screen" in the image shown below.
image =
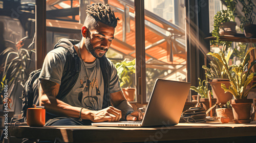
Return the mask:
[[121,110],[110,106],[99,111],[92,111],[90,120],[92,122],[117,122],[121,117]]

